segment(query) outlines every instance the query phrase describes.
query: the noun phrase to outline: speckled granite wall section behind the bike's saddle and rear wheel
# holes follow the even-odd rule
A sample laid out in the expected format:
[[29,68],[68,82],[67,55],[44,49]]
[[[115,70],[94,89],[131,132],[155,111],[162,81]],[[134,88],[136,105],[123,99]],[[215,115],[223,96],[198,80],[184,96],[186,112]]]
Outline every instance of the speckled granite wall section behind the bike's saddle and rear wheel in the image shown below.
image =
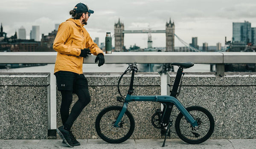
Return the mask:
[[[225,74],[216,77],[212,73],[186,73],[177,98],[185,107],[198,105],[212,113],[212,139],[256,138],[256,73]],[[168,74],[169,89],[175,75]]]

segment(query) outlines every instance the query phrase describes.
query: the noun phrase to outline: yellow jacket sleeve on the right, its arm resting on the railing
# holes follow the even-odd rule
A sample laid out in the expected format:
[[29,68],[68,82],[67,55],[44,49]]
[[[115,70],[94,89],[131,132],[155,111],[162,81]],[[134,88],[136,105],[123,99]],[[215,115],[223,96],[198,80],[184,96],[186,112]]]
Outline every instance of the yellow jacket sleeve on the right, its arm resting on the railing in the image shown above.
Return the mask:
[[90,37],[90,34],[85,30],[86,34],[86,44],[85,47],[90,49],[90,52],[93,55],[97,55],[99,53],[103,54],[103,51],[99,48],[99,46],[93,42],[92,38]]

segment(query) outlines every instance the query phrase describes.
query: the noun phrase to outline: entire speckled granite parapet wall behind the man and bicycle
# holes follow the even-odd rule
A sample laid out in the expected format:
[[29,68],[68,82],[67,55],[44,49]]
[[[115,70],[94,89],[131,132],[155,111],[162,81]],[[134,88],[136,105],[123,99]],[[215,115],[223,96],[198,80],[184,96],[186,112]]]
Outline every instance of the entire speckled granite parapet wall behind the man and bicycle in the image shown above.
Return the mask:
[[[212,139],[256,138],[256,73],[186,73],[177,97],[185,107],[198,105],[208,109],[215,118]],[[78,139],[99,138],[95,119],[107,106],[119,105],[116,101],[117,83],[121,73],[84,73],[88,80],[91,102],[82,111],[72,131]],[[172,89],[176,72],[167,75],[167,88]],[[49,73],[0,73],[0,139],[47,139],[49,129]],[[120,83],[126,95],[131,74]],[[136,73],[133,95],[160,95],[158,73]],[[55,84],[54,84],[55,85]],[[73,95],[73,104],[78,100]],[[59,108],[61,94],[57,91],[57,127],[61,126]],[[131,102],[128,110],[135,119],[131,139],[158,139],[160,130],[151,125],[151,116],[160,103]],[[173,115],[177,115],[174,108]],[[172,116],[175,122],[175,116]],[[174,124],[174,123],[173,123]],[[174,126],[172,126],[174,132]],[[57,135],[58,136],[58,135]],[[178,138],[171,133],[171,138]]]

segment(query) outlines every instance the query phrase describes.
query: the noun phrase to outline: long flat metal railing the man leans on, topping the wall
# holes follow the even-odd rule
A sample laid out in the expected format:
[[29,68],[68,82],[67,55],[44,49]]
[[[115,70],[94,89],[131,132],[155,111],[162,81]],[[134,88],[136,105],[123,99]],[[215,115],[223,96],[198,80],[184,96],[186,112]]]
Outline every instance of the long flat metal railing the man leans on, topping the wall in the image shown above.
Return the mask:
[[[55,63],[56,52],[0,52],[0,63]],[[84,63],[94,63],[94,55]],[[225,63],[256,63],[256,52],[112,52],[105,63],[173,63],[216,64],[216,75],[224,75]]]

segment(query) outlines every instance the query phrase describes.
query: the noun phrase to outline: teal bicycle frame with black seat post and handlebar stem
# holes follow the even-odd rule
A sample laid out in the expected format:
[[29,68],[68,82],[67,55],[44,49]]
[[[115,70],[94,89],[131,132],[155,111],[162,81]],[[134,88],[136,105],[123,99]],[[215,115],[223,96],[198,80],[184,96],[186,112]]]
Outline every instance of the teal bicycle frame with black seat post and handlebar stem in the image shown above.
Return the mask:
[[189,114],[189,112],[186,110],[186,108],[180,103],[180,101],[175,98],[177,95],[177,89],[180,84],[181,76],[183,74],[183,68],[179,67],[175,82],[172,88],[171,95],[160,95],[160,96],[133,96],[131,95],[133,93],[133,83],[134,83],[134,69],[132,70],[131,74],[131,83],[130,88],[128,90],[128,93],[125,97],[125,102],[122,106],[122,110],[119,112],[119,115],[116,117],[116,122],[114,124],[115,127],[119,127],[118,123],[121,121],[123,115],[125,114],[128,103],[132,101],[153,101],[153,102],[160,102],[163,103],[163,114],[161,115],[163,123],[168,123],[169,117],[172,112],[172,106],[175,105],[177,109],[186,117],[186,120],[193,126],[197,127],[198,123],[197,121]]

